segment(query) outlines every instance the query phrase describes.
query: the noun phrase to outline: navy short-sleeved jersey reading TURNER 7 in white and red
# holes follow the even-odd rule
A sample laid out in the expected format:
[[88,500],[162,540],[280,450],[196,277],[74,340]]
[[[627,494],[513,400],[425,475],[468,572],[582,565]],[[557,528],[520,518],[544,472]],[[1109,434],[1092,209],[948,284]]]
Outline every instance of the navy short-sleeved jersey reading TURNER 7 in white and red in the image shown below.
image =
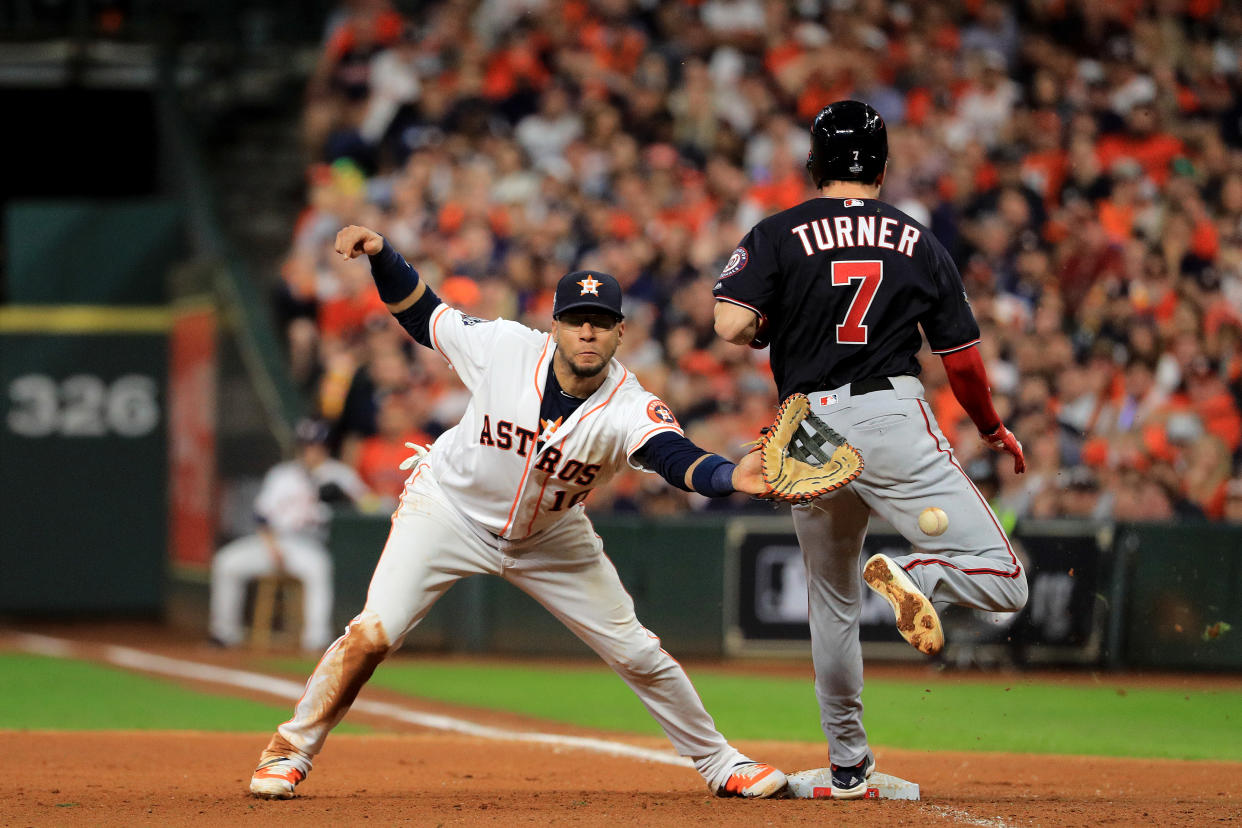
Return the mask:
[[780,398],[917,375],[979,341],[961,274],[919,222],[876,199],[811,199],[760,221],[713,294],[768,318]]

